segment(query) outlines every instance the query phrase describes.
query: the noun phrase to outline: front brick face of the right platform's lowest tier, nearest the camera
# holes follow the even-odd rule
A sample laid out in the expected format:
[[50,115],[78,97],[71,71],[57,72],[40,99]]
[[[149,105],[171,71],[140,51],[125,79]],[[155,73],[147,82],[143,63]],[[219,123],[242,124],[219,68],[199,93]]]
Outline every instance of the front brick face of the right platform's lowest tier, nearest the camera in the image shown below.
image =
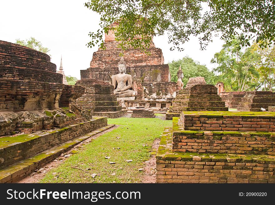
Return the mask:
[[224,156],[157,159],[157,183],[275,183],[275,161]]

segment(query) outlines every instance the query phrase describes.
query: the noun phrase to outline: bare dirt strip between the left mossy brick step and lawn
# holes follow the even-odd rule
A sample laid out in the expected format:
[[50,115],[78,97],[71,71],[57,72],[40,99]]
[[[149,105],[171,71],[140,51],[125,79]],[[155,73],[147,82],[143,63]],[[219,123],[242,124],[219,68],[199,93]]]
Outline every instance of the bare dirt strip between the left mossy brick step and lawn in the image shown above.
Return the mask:
[[62,164],[66,158],[68,158],[69,156],[71,156],[74,152],[78,151],[79,149],[81,149],[81,147],[84,144],[87,144],[89,142],[91,142],[92,140],[98,138],[99,136],[110,132],[116,128],[118,128],[119,125],[115,125],[114,127],[105,130],[101,133],[98,133],[96,135],[93,135],[92,137],[84,140],[83,142],[77,144],[76,146],[74,146],[72,149],[68,150],[66,153],[61,154],[58,158],[56,158],[55,160],[53,160],[52,162],[46,164],[45,166],[43,166],[42,168],[40,168],[39,170],[37,170],[37,172],[33,172],[32,174],[28,175],[27,177],[21,179],[20,181],[18,181],[17,183],[39,183],[39,180],[44,178],[44,176],[46,175],[47,172],[49,172],[51,169],[56,168],[58,165]]

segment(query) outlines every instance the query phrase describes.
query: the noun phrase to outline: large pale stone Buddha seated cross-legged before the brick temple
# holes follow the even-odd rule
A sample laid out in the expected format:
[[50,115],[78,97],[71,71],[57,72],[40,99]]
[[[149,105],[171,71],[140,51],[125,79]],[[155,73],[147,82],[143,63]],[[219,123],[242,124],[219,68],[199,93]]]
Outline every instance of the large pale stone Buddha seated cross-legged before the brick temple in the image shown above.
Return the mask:
[[[116,97],[133,97],[136,96],[136,92],[131,90],[132,88],[132,76],[126,74],[126,63],[121,56],[118,63],[117,75],[112,77],[112,85],[114,86],[114,95]],[[118,84],[118,85],[117,85]]]

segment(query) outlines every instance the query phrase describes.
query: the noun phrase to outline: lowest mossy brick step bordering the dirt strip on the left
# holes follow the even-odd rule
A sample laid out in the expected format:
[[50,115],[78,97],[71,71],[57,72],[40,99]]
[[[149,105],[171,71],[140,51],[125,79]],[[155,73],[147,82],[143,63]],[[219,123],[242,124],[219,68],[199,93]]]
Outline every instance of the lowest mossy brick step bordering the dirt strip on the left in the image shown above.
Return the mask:
[[58,157],[61,153],[64,153],[71,149],[78,143],[90,138],[91,136],[101,133],[107,129],[115,126],[114,124],[108,124],[107,126],[96,129],[92,132],[85,134],[84,136],[75,138],[73,140],[67,141],[63,144],[55,146],[51,149],[47,149],[34,157],[22,160],[18,163],[12,164],[2,170],[0,170],[0,183],[14,183],[21,178],[26,177],[28,174],[32,173],[34,170],[44,166],[45,164],[51,162],[53,159]]

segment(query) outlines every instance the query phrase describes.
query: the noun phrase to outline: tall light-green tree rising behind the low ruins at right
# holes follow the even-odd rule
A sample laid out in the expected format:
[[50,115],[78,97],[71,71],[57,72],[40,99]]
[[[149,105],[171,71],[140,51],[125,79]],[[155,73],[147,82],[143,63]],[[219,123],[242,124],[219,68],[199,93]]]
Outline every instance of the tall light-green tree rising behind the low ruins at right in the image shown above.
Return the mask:
[[223,81],[227,91],[247,91],[258,88],[259,73],[256,64],[260,56],[253,47],[242,48],[240,39],[234,37],[222,46],[222,50],[215,53],[211,63],[217,63],[216,79]]

